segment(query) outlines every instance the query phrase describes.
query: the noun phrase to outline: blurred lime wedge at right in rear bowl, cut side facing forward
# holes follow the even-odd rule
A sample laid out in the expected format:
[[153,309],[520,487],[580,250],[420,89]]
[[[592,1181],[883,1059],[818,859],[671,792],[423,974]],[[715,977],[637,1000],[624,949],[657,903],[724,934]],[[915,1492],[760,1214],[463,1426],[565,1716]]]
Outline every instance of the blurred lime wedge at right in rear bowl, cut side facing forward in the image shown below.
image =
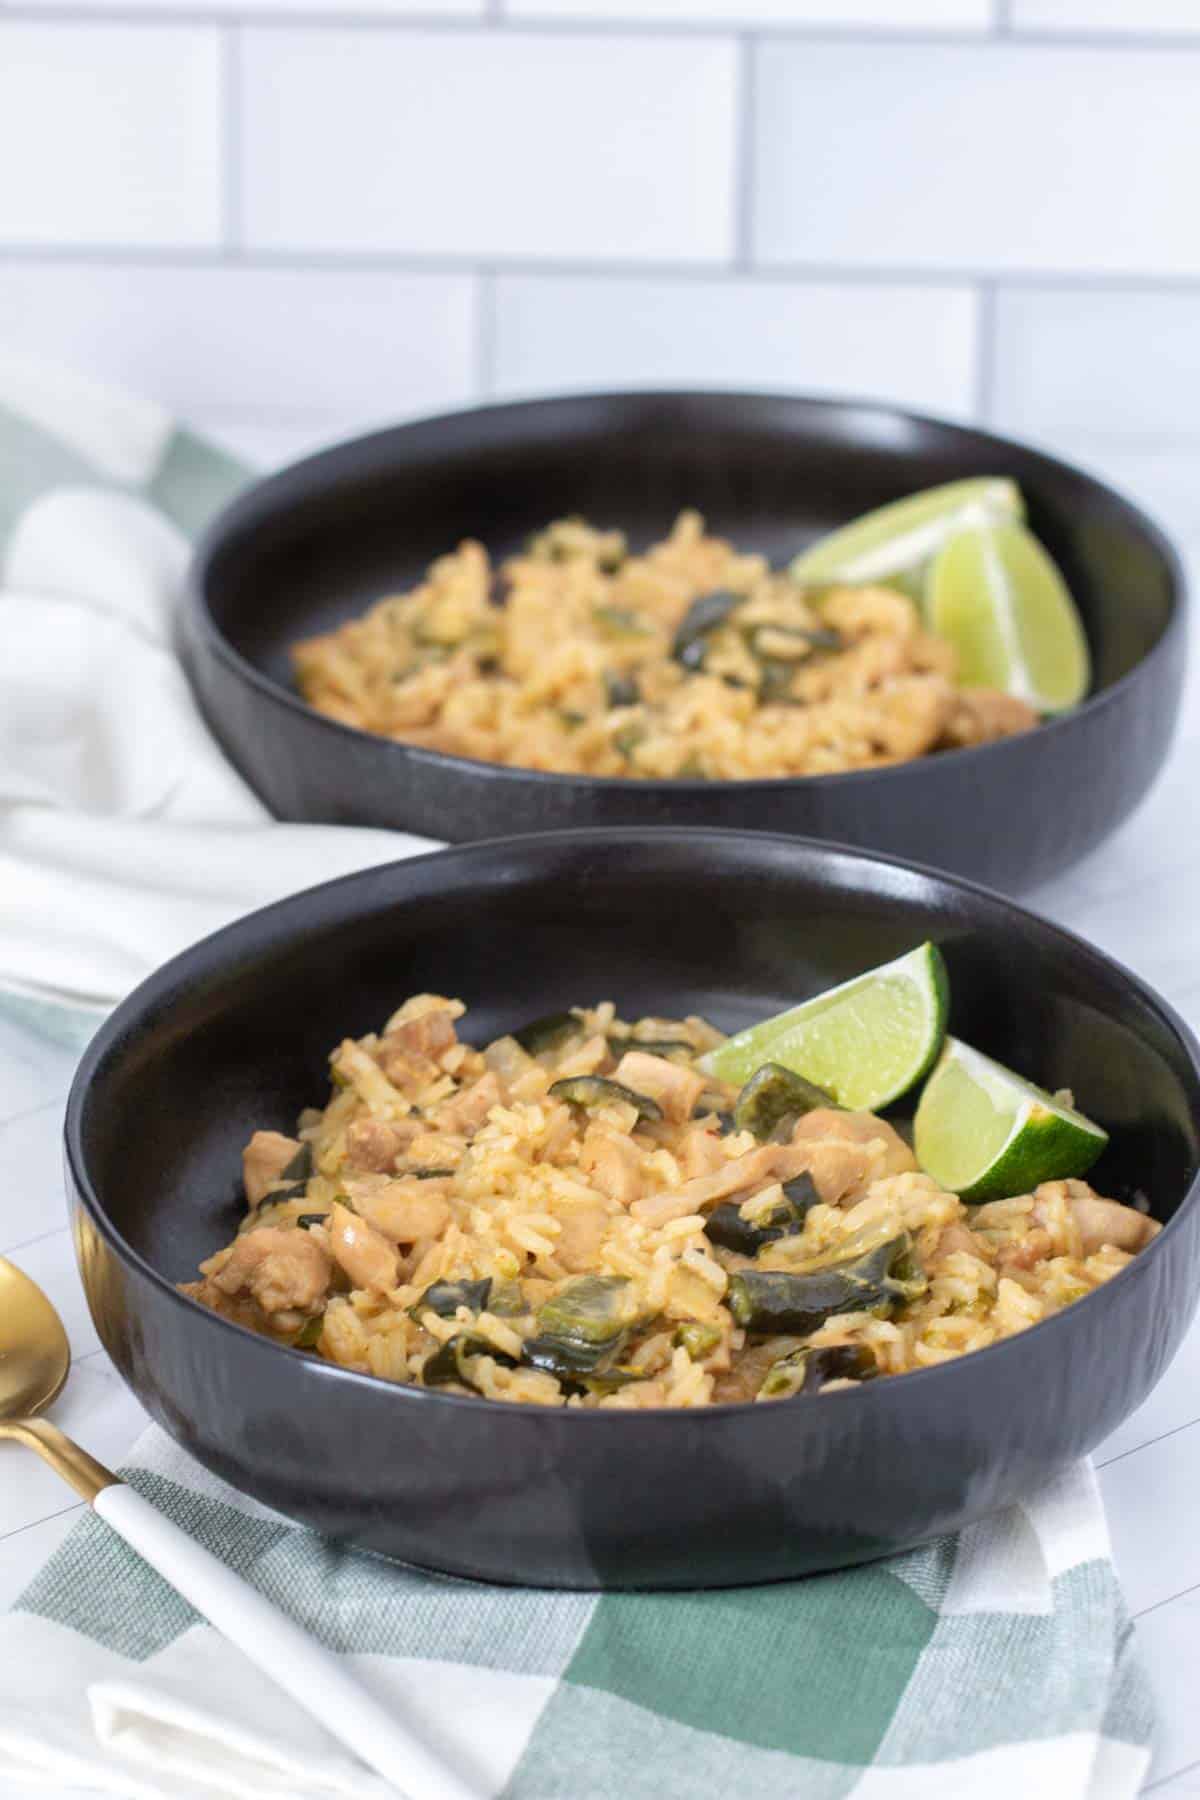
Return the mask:
[[959,653],[959,680],[1002,688],[1038,713],[1078,706],[1090,662],[1067,583],[1024,526],[957,531],[927,583],[930,626]]

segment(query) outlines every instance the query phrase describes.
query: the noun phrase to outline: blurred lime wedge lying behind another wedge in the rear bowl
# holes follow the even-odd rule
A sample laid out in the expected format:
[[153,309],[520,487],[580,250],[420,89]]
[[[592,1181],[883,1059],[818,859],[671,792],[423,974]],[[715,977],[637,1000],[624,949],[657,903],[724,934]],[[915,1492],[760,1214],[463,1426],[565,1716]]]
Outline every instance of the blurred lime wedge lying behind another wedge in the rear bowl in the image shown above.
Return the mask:
[[1020,490],[1004,475],[952,481],[945,488],[925,488],[880,506],[819,538],[793,560],[792,576],[808,587],[894,581],[923,571],[946,538],[964,526],[1024,517]]

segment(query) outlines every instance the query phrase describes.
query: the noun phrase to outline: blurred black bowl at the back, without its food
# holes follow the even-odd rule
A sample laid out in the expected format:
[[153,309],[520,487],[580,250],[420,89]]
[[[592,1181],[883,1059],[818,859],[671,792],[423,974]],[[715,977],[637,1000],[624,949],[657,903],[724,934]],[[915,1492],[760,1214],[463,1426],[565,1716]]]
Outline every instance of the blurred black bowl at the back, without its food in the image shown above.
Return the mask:
[[[482,538],[504,554],[585,513],[635,544],[684,506],[774,562],[898,495],[1015,477],[1079,601],[1092,698],[1029,736],[896,769],[774,781],[540,774],[369,736],[290,689],[288,646]],[[464,842],[579,824],[795,832],[1018,891],[1099,844],[1166,754],[1184,673],[1169,544],[1092,477],[1002,437],[887,407],[761,394],[599,394],[380,432],[252,488],[205,538],[185,659],[225,751],[281,819]]]

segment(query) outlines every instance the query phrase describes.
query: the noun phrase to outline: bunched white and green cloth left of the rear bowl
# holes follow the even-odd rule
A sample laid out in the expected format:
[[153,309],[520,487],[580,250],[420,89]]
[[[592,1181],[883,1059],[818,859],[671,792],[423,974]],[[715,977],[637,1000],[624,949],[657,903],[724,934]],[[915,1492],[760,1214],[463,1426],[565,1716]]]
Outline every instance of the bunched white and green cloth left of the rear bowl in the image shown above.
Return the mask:
[[175,607],[243,481],[160,409],[0,353],[0,990],[85,1033],[218,925],[432,848],[277,824],[209,736]]

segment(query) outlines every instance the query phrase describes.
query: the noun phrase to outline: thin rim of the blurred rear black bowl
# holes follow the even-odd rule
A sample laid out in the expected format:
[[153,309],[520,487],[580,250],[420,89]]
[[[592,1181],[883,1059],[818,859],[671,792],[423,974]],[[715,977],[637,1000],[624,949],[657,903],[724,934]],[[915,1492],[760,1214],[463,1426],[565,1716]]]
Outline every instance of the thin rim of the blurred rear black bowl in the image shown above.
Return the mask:
[[[1137,662],[1119,675],[1117,680],[1094,693],[1085,695],[1079,706],[1070,707],[1067,713],[1058,713],[1043,718],[1036,727],[1038,740],[1043,742],[1045,733],[1061,736],[1069,731],[1074,722],[1081,716],[1090,716],[1101,713],[1106,706],[1115,706],[1123,700],[1126,688],[1132,682],[1144,679],[1144,671],[1157,664],[1162,657],[1177,650],[1177,639],[1184,632],[1186,614],[1187,614],[1187,576],[1180,553],[1177,551],[1168,531],[1153,518],[1141,504],[1130,500],[1117,488],[1112,488],[1106,481],[1088,470],[1079,468],[1074,463],[1067,463],[1063,457],[1051,455],[1038,445],[1025,443],[1020,437],[1007,437],[1000,432],[991,432],[970,423],[961,423],[957,419],[946,419],[934,412],[918,412],[909,407],[892,405],[883,400],[858,400],[855,396],[831,396],[831,394],[808,394],[808,392],[788,392],[788,391],[765,391],[765,389],[694,389],[694,387],[653,387],[653,389],[599,389],[599,391],[570,391],[542,396],[524,396],[520,400],[502,400],[493,401],[486,407],[453,407],[446,412],[434,412],[416,419],[405,419],[399,425],[385,425],[381,428],[362,432],[353,437],[340,439],[338,443],[327,445],[322,450],[315,450],[284,468],[272,472],[270,475],[254,481],[248,488],[221,508],[221,511],[209,522],[200,542],[189,562],[187,585],[185,585],[185,610],[191,626],[205,641],[207,650],[223,662],[239,680],[248,682],[263,697],[284,706],[290,713],[299,718],[308,720],[313,727],[326,733],[333,733],[333,742],[353,742],[378,745],[380,754],[394,756],[401,765],[412,765],[414,774],[419,776],[423,769],[441,769],[450,772],[459,772],[462,778],[475,776],[488,781],[527,781],[534,787],[552,787],[570,783],[572,788],[581,788],[585,792],[603,790],[615,794],[646,794],[648,797],[673,796],[673,794],[703,794],[703,792],[725,792],[734,790],[745,794],[747,790],[790,790],[817,785],[819,790],[831,788],[837,792],[840,787],[853,787],[867,781],[896,781],[912,778],[914,770],[927,765],[927,756],[909,758],[900,763],[887,763],[880,769],[842,769],[829,774],[811,774],[811,776],[736,776],[736,778],[718,778],[702,779],[694,776],[673,776],[669,779],[660,776],[590,776],[590,774],[569,774],[552,769],[524,769],[518,763],[491,763],[477,756],[459,756],[450,751],[434,751],[428,745],[405,743],[401,738],[385,738],[378,731],[365,731],[360,725],[347,725],[340,718],[329,718],[326,713],[317,711],[309,706],[299,693],[284,686],[284,682],[275,680],[273,675],[266,675],[257,664],[243,657],[234,646],[232,639],[216,623],[212,610],[209,607],[209,576],[216,554],[221,551],[225,538],[241,517],[243,511],[254,511],[261,508],[264,500],[272,497],[288,499],[291,490],[297,490],[291,504],[302,500],[313,477],[335,477],[342,470],[349,470],[363,455],[380,459],[385,450],[401,437],[403,434],[416,432],[421,428],[450,428],[462,419],[477,419],[482,425],[497,421],[509,414],[529,414],[534,410],[554,410],[561,407],[563,410],[597,401],[603,405],[626,405],[626,403],[648,403],[664,405],[671,401],[729,401],[730,405],[761,405],[763,401],[775,405],[802,405],[811,407],[817,412],[828,416],[851,416],[864,414],[874,416],[876,419],[900,421],[903,425],[914,427],[918,430],[943,430],[952,432],[959,439],[973,439],[982,448],[995,446],[1000,454],[1020,452],[1025,457],[1033,457],[1045,470],[1063,473],[1074,481],[1081,481],[1090,486],[1101,499],[1115,502],[1124,509],[1137,529],[1142,533],[1146,542],[1160,556],[1171,589],[1171,610],[1162,634],[1151,648],[1137,659]],[[900,495],[903,499],[903,495]],[[1090,652],[1088,643],[1088,652]],[[954,767],[970,767],[981,756],[995,756],[1006,751],[1009,745],[1020,742],[1024,736],[1016,738],[997,738],[991,743],[963,745],[952,751],[941,751],[937,761],[943,758],[952,758]],[[964,758],[970,760],[964,763]]]

